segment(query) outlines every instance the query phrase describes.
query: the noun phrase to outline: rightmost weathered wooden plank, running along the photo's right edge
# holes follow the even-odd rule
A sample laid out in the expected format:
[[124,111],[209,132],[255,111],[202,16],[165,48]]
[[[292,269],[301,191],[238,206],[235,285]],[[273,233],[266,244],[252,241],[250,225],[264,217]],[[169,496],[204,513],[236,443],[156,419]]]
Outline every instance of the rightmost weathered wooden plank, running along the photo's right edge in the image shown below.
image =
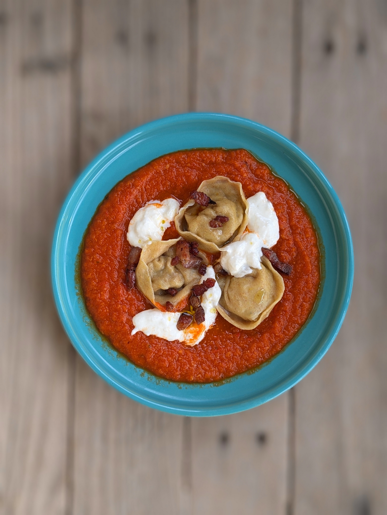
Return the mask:
[[387,9],[304,3],[301,146],[346,210],[355,283],[340,334],[296,389],[296,513],[387,512]]

